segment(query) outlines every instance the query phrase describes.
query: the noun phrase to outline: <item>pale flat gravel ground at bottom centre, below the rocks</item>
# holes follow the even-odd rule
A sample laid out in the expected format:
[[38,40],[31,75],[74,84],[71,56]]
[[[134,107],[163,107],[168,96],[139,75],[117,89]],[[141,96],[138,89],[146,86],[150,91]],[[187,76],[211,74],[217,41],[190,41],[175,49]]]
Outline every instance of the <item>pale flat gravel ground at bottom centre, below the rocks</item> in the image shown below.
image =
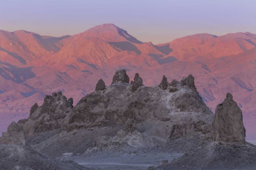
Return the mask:
[[94,169],[148,169],[149,166],[159,166],[163,160],[171,161],[181,157],[182,153],[169,152],[164,148],[132,148],[126,146],[116,151],[94,151],[89,154],[68,156],[62,160],[73,160],[79,165]]

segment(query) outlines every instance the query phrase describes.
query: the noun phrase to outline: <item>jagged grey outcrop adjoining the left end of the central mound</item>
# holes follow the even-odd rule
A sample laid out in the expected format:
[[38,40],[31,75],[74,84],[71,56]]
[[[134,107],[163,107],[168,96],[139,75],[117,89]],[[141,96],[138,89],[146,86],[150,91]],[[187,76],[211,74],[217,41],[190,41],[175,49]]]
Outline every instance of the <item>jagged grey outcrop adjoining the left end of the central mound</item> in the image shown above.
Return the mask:
[[51,131],[65,127],[68,115],[73,108],[73,98],[67,98],[62,92],[46,95],[42,106],[34,104],[27,120],[20,120],[17,124],[23,129],[26,137],[42,131]]

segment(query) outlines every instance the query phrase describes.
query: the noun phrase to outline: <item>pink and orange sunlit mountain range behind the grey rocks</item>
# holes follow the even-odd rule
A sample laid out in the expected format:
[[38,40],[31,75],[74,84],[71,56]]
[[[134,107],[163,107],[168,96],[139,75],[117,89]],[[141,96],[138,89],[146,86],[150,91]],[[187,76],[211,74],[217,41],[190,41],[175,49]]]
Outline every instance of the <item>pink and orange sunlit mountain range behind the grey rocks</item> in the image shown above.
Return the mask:
[[[171,30],[170,30],[171,31]],[[247,140],[256,140],[256,35],[207,33],[165,44],[141,42],[126,30],[103,24],[73,36],[41,36],[0,30],[0,131],[28,117],[34,103],[61,90],[74,99],[110,85],[116,70],[140,72],[146,86],[192,74],[199,94],[214,112],[227,93],[243,110]]]

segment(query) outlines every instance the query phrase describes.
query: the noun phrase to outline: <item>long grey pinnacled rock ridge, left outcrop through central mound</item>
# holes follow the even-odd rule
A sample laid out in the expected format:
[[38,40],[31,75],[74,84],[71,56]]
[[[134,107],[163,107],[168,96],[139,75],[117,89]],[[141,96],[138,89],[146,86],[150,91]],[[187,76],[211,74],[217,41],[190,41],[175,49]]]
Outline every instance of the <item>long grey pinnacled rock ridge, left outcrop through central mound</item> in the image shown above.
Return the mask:
[[[88,94],[75,107],[73,107],[73,99],[67,100],[62,92],[46,95],[43,105],[38,107],[34,104],[29,118],[17,124],[23,129],[26,137],[29,137],[37,132],[61,128],[72,131],[94,126],[123,124],[129,119],[144,121],[155,117],[168,123],[170,120],[173,121],[173,118],[169,117],[169,112],[201,113],[202,117],[211,119],[210,109],[197,92],[191,91],[191,88],[195,89],[193,80],[190,75],[182,82],[172,81],[168,86],[169,90],[174,89],[171,91],[172,94],[159,87],[144,87],[137,92],[138,87],[143,86],[139,74],[136,73],[130,87],[126,70],[118,70],[113,77],[112,85],[107,87],[108,90]],[[120,86],[118,82],[124,84]],[[165,76],[162,85],[166,88]],[[103,88],[106,88],[104,81],[99,80],[96,90]]]

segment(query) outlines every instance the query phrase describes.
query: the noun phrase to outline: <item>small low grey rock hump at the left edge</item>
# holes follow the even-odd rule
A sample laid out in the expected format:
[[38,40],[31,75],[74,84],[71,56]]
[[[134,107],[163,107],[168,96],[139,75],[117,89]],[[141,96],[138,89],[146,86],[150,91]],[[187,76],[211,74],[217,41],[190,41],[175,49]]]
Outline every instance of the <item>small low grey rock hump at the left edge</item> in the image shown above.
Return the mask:
[[18,144],[26,146],[26,137],[21,127],[13,121],[7,128],[7,132],[2,133],[0,144]]

